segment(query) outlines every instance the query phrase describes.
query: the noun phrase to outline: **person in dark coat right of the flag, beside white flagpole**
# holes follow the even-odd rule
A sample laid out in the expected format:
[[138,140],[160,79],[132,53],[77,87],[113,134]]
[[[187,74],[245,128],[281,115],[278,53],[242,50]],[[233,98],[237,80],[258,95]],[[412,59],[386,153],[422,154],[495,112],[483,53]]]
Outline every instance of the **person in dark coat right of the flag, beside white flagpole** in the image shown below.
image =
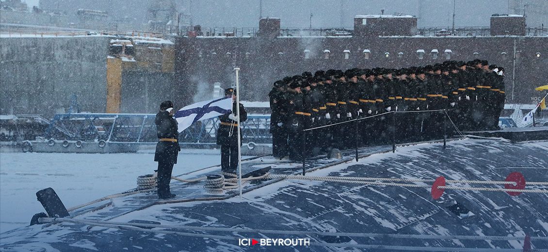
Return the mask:
[[[221,146],[221,171],[236,173],[238,167],[238,123],[236,110],[236,90],[225,89],[225,96],[232,96],[232,113],[219,116],[219,129],[217,130],[217,144]],[[247,120],[246,108],[239,104],[240,123]],[[240,132],[240,138],[242,134]]]

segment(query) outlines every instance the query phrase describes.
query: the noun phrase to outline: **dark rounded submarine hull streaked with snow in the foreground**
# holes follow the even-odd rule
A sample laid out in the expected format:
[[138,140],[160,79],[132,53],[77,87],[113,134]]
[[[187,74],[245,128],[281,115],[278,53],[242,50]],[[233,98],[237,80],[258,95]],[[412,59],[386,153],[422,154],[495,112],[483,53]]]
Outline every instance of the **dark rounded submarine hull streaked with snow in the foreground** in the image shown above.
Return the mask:
[[[318,158],[307,162],[307,168],[310,169],[307,176],[435,179],[443,175],[452,180],[500,181],[510,172],[520,171],[527,181],[548,181],[548,141],[511,143],[507,140],[464,139],[449,141],[446,150],[442,150],[441,144],[398,147],[396,153],[391,153],[390,150],[390,146],[362,148],[361,154],[368,157],[361,158],[359,162],[348,158],[346,162],[335,165],[330,164],[336,160]],[[346,152],[345,156],[351,154],[352,152]],[[246,171],[266,166],[272,166],[272,172],[276,174],[298,173],[301,169],[298,163],[280,162],[271,157],[243,163],[243,169]],[[312,171],[316,168],[322,169]],[[181,177],[190,178],[216,172],[218,168],[213,167]],[[548,236],[545,211],[548,207],[548,197],[543,193],[522,193],[511,197],[504,192],[446,190],[442,198],[433,200],[429,188],[301,180],[258,183],[246,185],[243,198],[239,198],[235,192],[206,194],[201,183],[181,184],[174,181],[172,191],[178,194],[174,201],[158,201],[153,193],[137,194],[113,199],[101,208],[98,206],[105,202],[71,214],[75,219],[120,222],[145,220],[164,225],[226,228],[382,234]],[[421,183],[418,184],[422,185]],[[89,211],[93,208],[94,211]],[[48,251],[246,251],[249,248],[239,247],[237,238],[304,238],[290,234],[251,232],[182,232],[221,237],[182,237],[63,222],[44,227],[35,225],[3,233],[0,248],[8,251],[36,251],[39,248]],[[310,238],[312,242],[349,246],[368,244],[431,248],[465,247],[486,248],[492,251],[521,251],[523,245],[523,242],[518,240],[397,239],[317,235]],[[532,243],[536,249],[548,248],[546,240],[534,239]],[[347,250],[327,247],[262,249]]]

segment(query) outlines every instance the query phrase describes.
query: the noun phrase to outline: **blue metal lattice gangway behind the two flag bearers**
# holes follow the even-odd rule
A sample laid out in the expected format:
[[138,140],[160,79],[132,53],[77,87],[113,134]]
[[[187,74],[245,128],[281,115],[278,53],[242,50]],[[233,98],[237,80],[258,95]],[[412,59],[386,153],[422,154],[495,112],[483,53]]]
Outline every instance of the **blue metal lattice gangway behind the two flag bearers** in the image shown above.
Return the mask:
[[[156,114],[64,113],[55,114],[44,137],[54,140],[81,140],[151,144],[158,141]],[[214,144],[219,119],[193,124],[181,132],[180,143]],[[242,124],[243,139],[256,144],[272,142],[270,114],[248,115]]]

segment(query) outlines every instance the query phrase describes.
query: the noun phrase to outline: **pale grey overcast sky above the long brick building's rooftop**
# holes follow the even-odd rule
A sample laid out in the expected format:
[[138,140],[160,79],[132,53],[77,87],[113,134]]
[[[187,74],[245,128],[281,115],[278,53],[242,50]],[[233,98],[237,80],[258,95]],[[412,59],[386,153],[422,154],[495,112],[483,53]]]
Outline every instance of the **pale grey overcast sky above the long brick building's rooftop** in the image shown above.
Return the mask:
[[[39,0],[25,1],[32,6],[38,5]],[[105,0],[99,1],[105,2]],[[456,0],[455,26],[489,26],[490,15],[510,13],[509,1]],[[191,10],[194,25],[258,27],[260,0],[175,0],[174,2],[181,12]],[[190,2],[192,4],[189,4]],[[140,6],[128,5],[118,8],[140,8]],[[142,6],[144,9],[146,7]],[[385,14],[415,15],[419,18],[419,27],[452,25],[453,0],[262,0],[262,16],[281,18],[282,27],[308,27],[310,13],[313,14],[313,27],[352,27],[353,16],[380,14],[381,9],[385,10]],[[342,19],[341,10],[343,10]]]

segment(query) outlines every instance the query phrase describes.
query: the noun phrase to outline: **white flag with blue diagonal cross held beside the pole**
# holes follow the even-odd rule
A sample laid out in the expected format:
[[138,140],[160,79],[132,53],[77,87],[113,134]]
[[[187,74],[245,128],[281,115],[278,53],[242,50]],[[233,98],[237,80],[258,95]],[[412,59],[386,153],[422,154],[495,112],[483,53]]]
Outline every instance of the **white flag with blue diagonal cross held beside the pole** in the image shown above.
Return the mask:
[[220,116],[232,111],[232,96],[210,101],[201,101],[185,106],[175,112],[175,119],[179,123],[179,132],[189,128],[192,123]]

